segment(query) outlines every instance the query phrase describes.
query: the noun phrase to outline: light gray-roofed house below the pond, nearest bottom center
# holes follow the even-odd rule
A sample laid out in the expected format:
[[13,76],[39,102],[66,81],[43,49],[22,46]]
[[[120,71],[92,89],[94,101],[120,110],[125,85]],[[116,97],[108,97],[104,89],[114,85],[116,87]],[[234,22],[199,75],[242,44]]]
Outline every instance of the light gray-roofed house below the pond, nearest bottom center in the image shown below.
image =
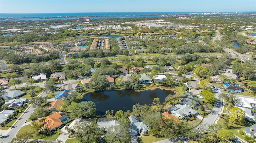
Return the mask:
[[130,133],[132,136],[137,135],[138,133],[146,134],[148,133],[148,126],[143,123],[143,121],[139,121],[138,118],[133,115],[128,117],[130,120]]

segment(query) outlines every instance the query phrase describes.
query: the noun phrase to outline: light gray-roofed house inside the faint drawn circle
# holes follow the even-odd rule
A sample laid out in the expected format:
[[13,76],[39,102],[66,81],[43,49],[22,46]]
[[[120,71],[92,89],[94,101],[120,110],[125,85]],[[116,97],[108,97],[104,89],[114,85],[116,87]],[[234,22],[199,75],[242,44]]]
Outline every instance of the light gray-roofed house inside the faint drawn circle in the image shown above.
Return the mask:
[[181,118],[181,119],[183,119],[185,117],[189,117],[192,114],[194,114],[194,116],[197,116],[197,114],[198,114],[191,107],[186,106],[186,105],[181,105],[181,104],[172,106],[172,109],[173,110],[170,112],[170,114],[172,114],[178,118]]

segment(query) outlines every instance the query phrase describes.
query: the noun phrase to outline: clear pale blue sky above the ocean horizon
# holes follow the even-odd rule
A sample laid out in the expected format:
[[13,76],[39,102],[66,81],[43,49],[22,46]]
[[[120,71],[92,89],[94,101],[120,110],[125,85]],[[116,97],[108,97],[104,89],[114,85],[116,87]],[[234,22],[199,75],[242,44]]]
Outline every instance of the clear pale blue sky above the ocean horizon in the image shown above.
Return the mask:
[[0,0],[0,13],[252,11],[256,0]]

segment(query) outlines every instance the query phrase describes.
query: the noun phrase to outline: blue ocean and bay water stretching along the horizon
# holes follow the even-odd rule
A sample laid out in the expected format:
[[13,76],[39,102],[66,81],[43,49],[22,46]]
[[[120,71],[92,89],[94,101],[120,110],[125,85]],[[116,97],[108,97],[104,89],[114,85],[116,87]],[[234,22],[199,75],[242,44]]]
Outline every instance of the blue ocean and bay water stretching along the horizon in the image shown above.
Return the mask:
[[[40,13],[40,14],[4,14],[0,13],[0,18],[14,18],[2,20],[72,20],[79,17],[89,17],[91,19],[102,18],[140,18],[140,17],[161,17],[170,16],[172,14],[202,14],[211,12],[86,12],[86,13]],[[220,12],[222,13],[222,12]],[[235,12],[223,12],[235,13]],[[239,12],[248,13],[248,12]]]

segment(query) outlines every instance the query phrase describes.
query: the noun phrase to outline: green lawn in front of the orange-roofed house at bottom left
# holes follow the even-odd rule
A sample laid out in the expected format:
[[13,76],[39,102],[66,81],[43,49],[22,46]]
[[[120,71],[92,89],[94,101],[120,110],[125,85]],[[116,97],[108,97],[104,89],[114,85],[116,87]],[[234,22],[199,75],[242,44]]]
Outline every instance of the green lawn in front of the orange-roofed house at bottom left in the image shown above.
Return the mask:
[[[31,125],[25,125],[20,130],[18,131],[17,135],[21,133],[31,133]],[[46,140],[51,140],[54,141],[58,138],[59,134],[58,131],[54,131],[52,134],[40,134],[40,135],[35,135],[33,134],[33,139],[46,139]]]

